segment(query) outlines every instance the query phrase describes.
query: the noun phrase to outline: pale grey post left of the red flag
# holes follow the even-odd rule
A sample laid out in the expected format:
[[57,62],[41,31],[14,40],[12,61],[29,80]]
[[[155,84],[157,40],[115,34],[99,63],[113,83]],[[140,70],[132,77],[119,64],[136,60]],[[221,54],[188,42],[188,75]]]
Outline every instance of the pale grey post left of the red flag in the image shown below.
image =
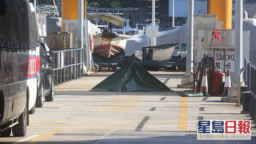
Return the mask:
[[190,68],[193,68],[193,19],[194,19],[194,0],[188,0],[187,16],[187,61],[186,73],[190,74]]

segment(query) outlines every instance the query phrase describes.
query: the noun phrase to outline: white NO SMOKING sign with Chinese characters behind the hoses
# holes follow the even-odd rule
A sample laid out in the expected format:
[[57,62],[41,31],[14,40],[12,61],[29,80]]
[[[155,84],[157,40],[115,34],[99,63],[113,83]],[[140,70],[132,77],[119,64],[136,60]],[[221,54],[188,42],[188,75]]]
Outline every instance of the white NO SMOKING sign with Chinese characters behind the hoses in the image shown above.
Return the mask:
[[[203,50],[201,58],[207,56],[208,50]],[[209,57],[213,57],[213,50],[210,50]],[[234,68],[235,68],[235,52],[234,51],[220,51],[220,50],[215,50],[215,67],[216,69],[221,69],[225,72],[228,70],[230,73],[234,73]]]

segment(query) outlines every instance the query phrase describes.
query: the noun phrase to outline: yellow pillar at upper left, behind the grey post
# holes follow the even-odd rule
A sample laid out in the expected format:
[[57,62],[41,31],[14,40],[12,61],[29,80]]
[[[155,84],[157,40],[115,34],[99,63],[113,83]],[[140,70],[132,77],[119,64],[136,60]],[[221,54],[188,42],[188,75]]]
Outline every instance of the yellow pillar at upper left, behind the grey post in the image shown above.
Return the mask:
[[78,0],[62,0],[62,32],[65,32],[63,20],[78,20]]

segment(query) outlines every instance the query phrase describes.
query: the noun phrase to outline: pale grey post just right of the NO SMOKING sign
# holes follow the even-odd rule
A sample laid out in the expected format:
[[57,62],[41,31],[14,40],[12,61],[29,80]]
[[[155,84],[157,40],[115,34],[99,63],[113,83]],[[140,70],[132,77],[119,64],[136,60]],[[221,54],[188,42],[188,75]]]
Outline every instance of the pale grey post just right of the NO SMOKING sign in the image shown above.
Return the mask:
[[[235,2],[235,81],[238,82],[239,70],[242,68],[242,14],[243,1],[236,0]],[[241,76],[242,80],[242,76]]]

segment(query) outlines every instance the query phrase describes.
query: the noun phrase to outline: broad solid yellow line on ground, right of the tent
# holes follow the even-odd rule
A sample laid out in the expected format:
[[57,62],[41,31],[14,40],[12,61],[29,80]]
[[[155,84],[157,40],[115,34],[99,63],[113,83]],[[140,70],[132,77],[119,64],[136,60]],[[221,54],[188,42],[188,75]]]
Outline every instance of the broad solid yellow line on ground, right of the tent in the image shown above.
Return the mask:
[[187,130],[187,97],[181,97],[178,130]]

